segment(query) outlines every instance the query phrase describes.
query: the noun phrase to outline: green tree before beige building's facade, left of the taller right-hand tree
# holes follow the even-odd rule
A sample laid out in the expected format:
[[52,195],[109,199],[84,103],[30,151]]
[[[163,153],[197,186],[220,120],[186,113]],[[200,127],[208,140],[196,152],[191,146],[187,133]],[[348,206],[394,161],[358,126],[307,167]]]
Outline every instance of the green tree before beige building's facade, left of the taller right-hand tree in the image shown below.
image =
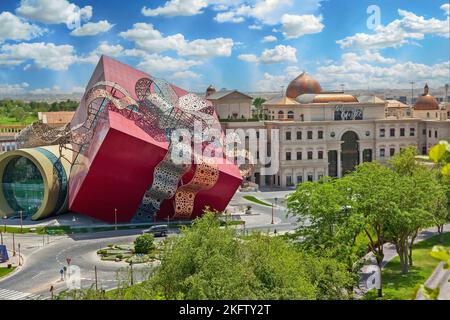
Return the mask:
[[364,224],[354,212],[348,179],[324,179],[299,184],[288,197],[289,213],[297,217],[295,238],[315,255],[333,256],[357,272],[357,262],[367,253],[360,242]]

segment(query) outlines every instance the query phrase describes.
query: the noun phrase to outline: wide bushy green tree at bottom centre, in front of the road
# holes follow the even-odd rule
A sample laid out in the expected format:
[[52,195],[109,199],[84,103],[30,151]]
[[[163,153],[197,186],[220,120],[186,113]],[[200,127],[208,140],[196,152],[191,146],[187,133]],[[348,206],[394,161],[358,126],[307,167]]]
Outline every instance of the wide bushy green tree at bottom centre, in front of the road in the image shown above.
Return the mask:
[[149,280],[165,299],[337,299],[350,282],[345,265],[281,237],[241,240],[213,213],[170,240]]

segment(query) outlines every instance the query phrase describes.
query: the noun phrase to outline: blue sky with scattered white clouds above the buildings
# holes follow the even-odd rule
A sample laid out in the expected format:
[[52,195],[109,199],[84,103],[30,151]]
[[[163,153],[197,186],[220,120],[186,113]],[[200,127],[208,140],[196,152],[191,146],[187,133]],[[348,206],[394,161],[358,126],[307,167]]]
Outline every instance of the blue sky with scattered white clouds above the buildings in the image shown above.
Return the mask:
[[83,92],[102,54],[189,91],[450,82],[447,0],[0,0],[0,95]]

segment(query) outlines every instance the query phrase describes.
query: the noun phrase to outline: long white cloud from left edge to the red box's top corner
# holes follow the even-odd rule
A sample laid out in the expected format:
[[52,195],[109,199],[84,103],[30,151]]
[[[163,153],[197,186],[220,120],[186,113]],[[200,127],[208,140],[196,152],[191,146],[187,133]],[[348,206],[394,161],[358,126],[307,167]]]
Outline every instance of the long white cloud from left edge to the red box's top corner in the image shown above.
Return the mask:
[[0,64],[19,65],[32,61],[36,67],[67,70],[74,63],[96,63],[95,57],[78,57],[71,45],[53,43],[5,44],[0,48]]

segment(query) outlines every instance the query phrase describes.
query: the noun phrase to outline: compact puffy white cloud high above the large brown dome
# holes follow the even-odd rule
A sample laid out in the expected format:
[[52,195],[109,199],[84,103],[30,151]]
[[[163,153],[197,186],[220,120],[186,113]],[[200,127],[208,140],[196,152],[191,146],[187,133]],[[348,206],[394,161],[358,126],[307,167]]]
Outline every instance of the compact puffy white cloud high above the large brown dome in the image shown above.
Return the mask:
[[322,24],[322,16],[285,14],[281,18],[283,35],[286,39],[296,39],[305,34],[322,32],[325,27]]

